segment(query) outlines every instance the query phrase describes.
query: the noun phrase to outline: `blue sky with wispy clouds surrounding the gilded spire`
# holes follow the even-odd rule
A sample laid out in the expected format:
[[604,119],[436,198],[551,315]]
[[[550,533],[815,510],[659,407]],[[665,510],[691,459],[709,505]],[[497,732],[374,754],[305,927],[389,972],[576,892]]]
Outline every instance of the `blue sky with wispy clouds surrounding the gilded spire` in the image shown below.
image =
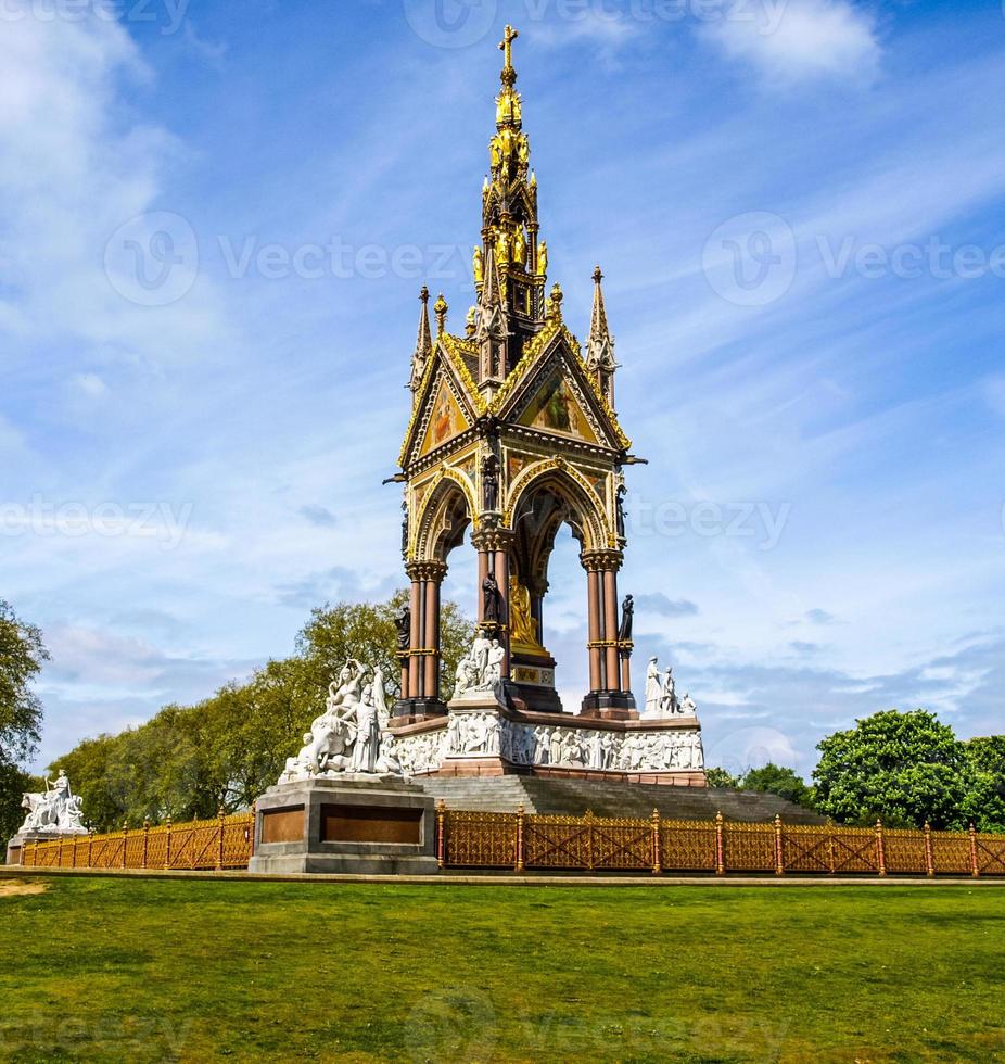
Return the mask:
[[[650,459],[637,673],[673,662],[734,768],[891,706],[1002,731],[1001,5],[4,0],[0,595],[52,651],[39,763],[402,584],[380,482],[419,288],[455,331],[472,300],[506,21],[549,273],[585,339],[602,265]],[[571,540],[552,587],[572,708]]]

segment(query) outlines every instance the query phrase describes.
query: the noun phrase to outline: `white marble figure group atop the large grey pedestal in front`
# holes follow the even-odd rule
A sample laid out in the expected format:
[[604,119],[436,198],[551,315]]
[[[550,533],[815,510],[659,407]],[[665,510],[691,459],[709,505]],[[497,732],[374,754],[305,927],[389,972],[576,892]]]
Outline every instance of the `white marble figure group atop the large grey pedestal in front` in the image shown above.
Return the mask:
[[384,697],[384,675],[378,667],[365,683],[368,666],[351,658],[328,687],[325,712],[304,735],[295,758],[287,759],[280,783],[339,772],[403,772],[385,742],[391,711]]

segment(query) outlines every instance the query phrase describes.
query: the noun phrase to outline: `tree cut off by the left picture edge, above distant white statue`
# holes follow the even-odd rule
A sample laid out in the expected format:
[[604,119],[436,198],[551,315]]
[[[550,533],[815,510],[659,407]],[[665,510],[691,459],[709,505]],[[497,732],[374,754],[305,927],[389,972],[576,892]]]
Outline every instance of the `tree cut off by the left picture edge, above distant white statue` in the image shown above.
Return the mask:
[[30,781],[20,768],[38,748],[42,707],[31,689],[49,651],[41,632],[18,620],[0,599],[0,833],[12,835],[24,821],[22,790]]

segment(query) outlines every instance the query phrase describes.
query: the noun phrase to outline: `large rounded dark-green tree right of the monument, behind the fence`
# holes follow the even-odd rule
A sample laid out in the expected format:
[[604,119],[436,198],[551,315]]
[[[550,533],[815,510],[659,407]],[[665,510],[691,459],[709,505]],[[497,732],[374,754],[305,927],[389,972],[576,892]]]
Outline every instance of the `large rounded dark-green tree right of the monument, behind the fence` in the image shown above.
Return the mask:
[[888,710],[823,739],[816,808],[847,824],[962,826],[965,757],[953,730],[921,709]]

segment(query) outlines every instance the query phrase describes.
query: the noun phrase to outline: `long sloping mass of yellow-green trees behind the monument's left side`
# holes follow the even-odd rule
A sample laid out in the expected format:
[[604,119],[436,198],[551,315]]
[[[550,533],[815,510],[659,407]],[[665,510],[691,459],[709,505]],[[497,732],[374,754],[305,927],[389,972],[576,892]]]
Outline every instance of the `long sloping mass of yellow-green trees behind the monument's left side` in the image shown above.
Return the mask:
[[[349,657],[380,667],[389,699],[398,694],[394,619],[406,601],[339,603],[314,610],[296,653],[269,661],[195,706],[167,706],[139,727],[78,744],[55,763],[84,800],[85,821],[111,831],[123,821],[212,818],[250,806],[279,777],[285,759],[325,708],[328,685]],[[473,625],[453,603],[442,610],[448,691]]]

